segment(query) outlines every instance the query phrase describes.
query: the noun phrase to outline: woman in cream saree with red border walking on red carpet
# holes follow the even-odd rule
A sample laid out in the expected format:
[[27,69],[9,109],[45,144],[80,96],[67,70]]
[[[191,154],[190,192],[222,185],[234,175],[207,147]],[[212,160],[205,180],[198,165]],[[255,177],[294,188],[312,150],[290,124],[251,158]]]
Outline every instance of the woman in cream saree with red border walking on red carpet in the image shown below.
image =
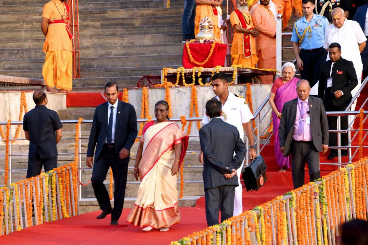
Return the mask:
[[168,118],[169,105],[158,101],[156,120],[142,130],[134,163],[134,176],[141,180],[137,200],[127,222],[143,228],[167,231],[180,222],[176,189],[178,169],[188,148],[188,136]]

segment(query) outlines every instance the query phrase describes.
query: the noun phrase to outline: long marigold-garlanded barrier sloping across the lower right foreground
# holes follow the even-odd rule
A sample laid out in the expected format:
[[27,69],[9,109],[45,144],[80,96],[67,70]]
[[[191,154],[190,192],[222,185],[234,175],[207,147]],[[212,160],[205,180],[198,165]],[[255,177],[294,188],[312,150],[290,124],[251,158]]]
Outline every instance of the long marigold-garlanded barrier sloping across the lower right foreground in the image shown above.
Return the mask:
[[350,219],[367,220],[368,157],[284,196],[171,244],[317,244],[339,236]]

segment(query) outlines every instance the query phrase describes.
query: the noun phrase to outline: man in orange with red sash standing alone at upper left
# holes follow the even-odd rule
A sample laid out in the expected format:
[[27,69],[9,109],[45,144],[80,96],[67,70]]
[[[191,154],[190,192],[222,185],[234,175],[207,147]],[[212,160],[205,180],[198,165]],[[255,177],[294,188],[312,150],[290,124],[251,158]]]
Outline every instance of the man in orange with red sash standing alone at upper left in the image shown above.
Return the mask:
[[[47,24],[49,24],[47,26]],[[72,33],[69,30],[69,6],[65,0],[51,0],[42,12],[41,29],[46,40],[42,51],[46,53],[42,76],[47,91],[67,93],[72,90]]]

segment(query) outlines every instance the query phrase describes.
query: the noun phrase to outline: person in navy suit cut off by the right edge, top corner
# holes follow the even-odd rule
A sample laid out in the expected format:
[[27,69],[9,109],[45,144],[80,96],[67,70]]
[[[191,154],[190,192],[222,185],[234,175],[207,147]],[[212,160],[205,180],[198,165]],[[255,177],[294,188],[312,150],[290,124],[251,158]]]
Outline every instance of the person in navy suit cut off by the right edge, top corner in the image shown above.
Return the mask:
[[[365,0],[367,2],[367,0]],[[353,21],[359,23],[360,28],[362,28],[365,37],[368,39],[368,19],[367,19],[367,12],[368,12],[368,4],[364,4],[357,8],[357,11],[354,14]],[[365,41],[366,45],[363,51],[360,53],[360,57],[362,58],[363,63],[363,79],[368,76],[368,40]]]

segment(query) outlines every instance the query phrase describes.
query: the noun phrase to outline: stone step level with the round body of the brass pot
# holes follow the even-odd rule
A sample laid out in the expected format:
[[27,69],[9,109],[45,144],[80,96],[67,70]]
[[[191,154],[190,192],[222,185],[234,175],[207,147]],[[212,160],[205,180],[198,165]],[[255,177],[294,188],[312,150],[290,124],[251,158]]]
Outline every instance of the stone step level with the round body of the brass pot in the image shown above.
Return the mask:
[[[130,36],[102,36],[83,37],[79,40],[81,47],[117,46],[117,45],[150,45],[160,43],[181,43],[182,33],[170,34],[146,34]],[[1,48],[40,48],[42,49],[45,38],[37,39],[0,39]]]

